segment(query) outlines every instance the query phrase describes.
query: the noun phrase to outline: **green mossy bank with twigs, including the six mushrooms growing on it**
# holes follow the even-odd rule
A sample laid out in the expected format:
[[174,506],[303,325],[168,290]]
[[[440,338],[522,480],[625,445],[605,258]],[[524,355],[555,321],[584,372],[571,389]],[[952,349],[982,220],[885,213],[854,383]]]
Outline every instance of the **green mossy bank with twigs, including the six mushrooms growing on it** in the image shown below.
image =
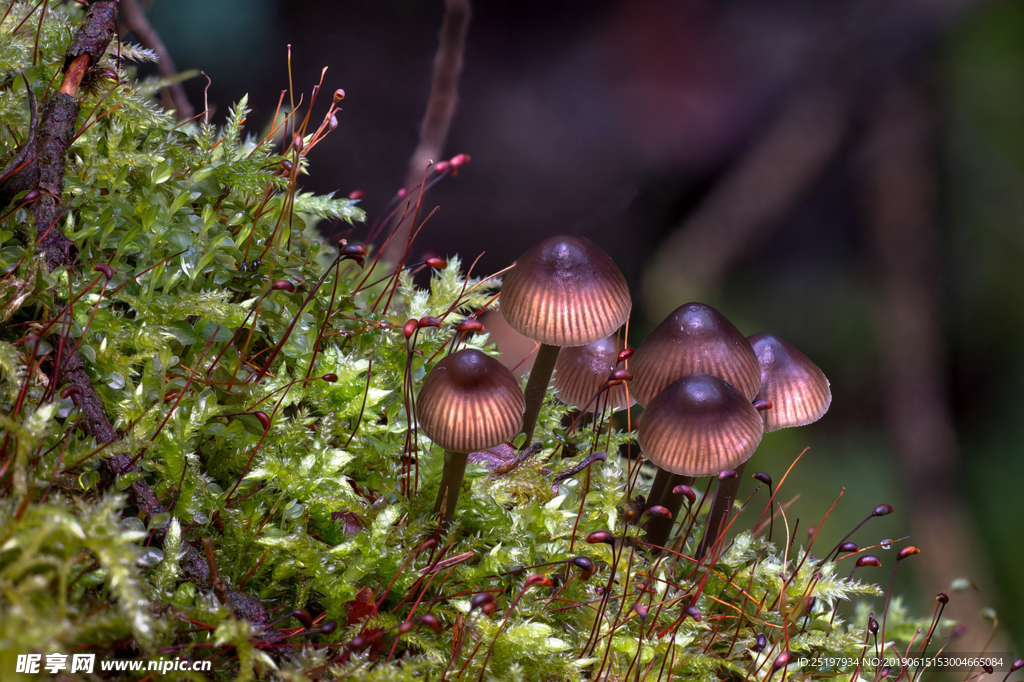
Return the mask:
[[[828,407],[792,346],[690,303],[634,354],[626,281],[580,237],[504,285],[417,260],[425,191],[468,157],[366,225],[361,195],[301,190],[344,125],[323,83],[258,133],[246,99],[178,122],[118,3],[41,5],[0,2],[0,677],[92,653],[243,680],[876,679],[801,662],[946,641],[944,601],[913,617],[861,580],[890,563],[869,526],[822,513],[846,537],[799,542],[782,472],[734,504],[762,433]],[[525,393],[496,306],[540,346]]]

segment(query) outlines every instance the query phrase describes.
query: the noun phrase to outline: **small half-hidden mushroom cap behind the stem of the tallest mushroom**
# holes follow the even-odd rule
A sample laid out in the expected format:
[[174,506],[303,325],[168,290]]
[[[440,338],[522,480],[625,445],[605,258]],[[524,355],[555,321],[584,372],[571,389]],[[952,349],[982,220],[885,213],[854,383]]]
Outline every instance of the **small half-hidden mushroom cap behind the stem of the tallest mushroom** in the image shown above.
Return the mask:
[[597,399],[597,392],[615,369],[624,345],[609,336],[586,346],[563,348],[555,363],[555,393],[558,399],[584,412],[597,412],[605,400],[612,410],[628,410],[636,400],[627,399],[624,386],[612,386]]

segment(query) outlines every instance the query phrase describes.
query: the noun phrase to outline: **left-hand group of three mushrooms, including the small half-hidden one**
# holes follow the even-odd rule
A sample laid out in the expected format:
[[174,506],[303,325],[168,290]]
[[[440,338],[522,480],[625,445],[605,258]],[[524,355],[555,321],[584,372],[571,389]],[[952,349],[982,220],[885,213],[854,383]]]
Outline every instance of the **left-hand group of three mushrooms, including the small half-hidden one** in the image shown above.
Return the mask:
[[[466,349],[437,363],[417,397],[420,428],[445,453],[434,504],[442,524],[453,519],[469,453],[499,445],[520,431],[529,444],[560,348],[584,347],[567,354],[559,389],[581,410],[628,378],[611,376],[617,359],[605,354],[607,348],[614,354],[614,340],[610,346],[606,340],[626,323],[631,307],[623,273],[590,240],[552,237],[516,261],[505,278],[501,311],[512,329],[540,343],[525,396],[498,360]],[[602,369],[606,361],[611,365]]]

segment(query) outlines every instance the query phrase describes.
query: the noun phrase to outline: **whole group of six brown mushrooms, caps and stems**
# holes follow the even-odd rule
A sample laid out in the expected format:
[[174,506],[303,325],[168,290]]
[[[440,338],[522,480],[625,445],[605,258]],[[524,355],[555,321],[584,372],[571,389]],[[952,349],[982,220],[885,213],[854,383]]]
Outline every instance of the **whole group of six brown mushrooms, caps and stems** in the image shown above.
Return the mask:
[[553,371],[558,398],[583,413],[645,407],[637,439],[658,469],[646,501],[658,508],[648,515],[651,545],[667,544],[693,478],[718,476],[698,556],[717,541],[762,435],[809,424],[828,409],[828,381],[806,355],[768,334],[744,337],[702,303],[674,310],[621,367],[633,353],[616,336],[631,306],[622,272],[587,239],[552,237],[515,262],[500,308],[513,330],[539,344],[525,394],[497,359],[466,349],[433,367],[417,399],[420,427],[445,452],[434,504],[443,524],[453,519],[470,453],[519,432],[530,444]]

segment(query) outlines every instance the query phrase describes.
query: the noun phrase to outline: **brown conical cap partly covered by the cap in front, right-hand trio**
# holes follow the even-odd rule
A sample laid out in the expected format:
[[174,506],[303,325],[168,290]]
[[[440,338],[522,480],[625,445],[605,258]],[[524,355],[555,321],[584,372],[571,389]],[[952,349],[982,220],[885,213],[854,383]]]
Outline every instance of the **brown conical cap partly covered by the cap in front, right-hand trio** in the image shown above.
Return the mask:
[[761,369],[746,338],[715,308],[687,303],[675,309],[637,347],[630,390],[640,404],[688,374],[705,372],[753,400]]

